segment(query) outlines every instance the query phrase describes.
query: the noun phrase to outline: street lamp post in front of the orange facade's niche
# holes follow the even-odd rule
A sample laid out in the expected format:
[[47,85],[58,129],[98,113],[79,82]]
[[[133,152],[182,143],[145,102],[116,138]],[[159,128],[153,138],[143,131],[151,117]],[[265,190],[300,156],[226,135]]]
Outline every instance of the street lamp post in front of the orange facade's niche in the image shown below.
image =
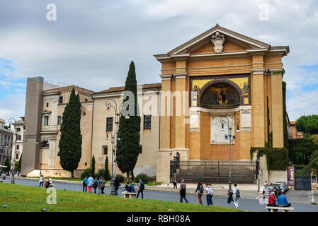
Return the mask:
[[[237,120],[237,123],[235,124],[235,120]],[[233,135],[233,123],[237,126],[237,132],[239,132],[239,119],[233,118],[228,119],[225,115],[221,118],[221,124],[222,128],[221,131],[224,131],[224,125],[227,125],[227,134],[225,134],[225,139],[229,139],[229,192],[232,191],[232,181],[231,181],[231,174],[232,174],[232,165],[231,165],[231,145],[232,140],[235,140],[235,135]]]

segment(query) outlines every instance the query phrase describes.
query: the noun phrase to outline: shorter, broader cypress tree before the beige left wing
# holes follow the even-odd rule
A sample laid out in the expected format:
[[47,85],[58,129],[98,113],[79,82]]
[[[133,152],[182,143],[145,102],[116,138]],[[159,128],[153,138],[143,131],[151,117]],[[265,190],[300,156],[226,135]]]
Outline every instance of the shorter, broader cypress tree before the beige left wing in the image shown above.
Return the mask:
[[61,124],[61,138],[59,139],[59,164],[63,169],[71,172],[74,178],[74,169],[81,160],[81,102],[79,95],[75,95],[74,87],[67,103]]

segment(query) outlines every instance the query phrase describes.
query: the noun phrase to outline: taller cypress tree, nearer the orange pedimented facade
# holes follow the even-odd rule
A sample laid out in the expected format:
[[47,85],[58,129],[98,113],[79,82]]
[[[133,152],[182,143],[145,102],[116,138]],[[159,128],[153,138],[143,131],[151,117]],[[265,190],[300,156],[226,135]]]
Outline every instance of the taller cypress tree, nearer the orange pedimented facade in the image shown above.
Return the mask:
[[[121,172],[127,174],[127,182],[129,182],[130,172],[135,168],[137,158],[140,151],[140,116],[137,116],[137,80],[135,73],[135,64],[132,61],[125,81],[125,91],[130,91],[135,97],[134,115],[130,115],[130,119],[125,119],[121,115],[119,119],[118,140],[117,142],[117,165]],[[123,102],[129,100],[125,97]],[[131,100],[130,100],[131,101]]]

